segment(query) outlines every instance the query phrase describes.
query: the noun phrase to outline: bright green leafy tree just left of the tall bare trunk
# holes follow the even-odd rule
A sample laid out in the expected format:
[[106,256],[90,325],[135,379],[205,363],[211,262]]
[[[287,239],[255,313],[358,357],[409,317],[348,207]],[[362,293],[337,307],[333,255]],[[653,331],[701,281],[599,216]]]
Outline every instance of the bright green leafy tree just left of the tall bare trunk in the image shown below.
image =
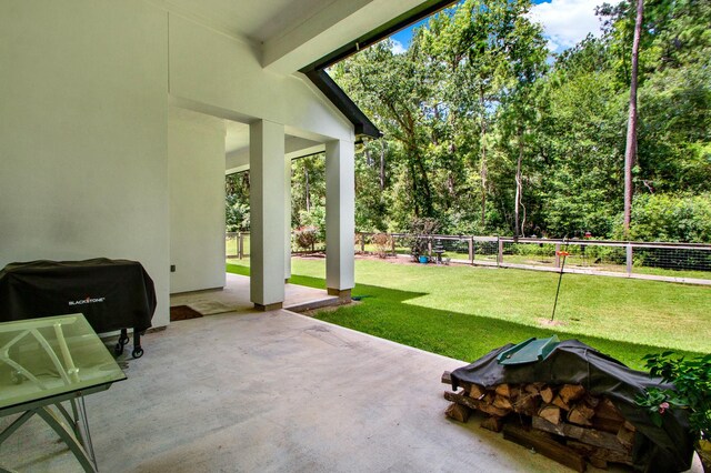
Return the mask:
[[588,38],[538,87],[538,195],[527,213],[539,234],[609,235],[622,211],[622,199],[610,195],[621,194],[625,103],[610,62],[605,40]]

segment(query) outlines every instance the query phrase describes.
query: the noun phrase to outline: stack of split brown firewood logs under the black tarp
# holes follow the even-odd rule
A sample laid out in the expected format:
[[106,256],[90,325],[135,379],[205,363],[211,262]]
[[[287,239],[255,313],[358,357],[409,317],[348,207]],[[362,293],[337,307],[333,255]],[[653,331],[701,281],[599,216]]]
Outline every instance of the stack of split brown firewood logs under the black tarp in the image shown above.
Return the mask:
[[[450,373],[442,382],[451,384]],[[593,396],[579,384],[499,384],[484,388],[460,383],[459,392],[445,391],[452,404],[447,415],[467,422],[472,411],[485,416],[481,426],[515,443],[534,449],[577,471],[587,462],[632,465],[634,425],[605,396]]]

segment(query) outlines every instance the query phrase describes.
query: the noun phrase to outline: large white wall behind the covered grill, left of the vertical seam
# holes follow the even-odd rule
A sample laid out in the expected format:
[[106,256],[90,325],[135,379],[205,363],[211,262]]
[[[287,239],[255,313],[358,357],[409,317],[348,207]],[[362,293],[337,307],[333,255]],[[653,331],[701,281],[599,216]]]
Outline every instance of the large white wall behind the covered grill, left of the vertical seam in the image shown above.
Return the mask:
[[167,14],[0,1],[0,265],[140,261],[168,314]]

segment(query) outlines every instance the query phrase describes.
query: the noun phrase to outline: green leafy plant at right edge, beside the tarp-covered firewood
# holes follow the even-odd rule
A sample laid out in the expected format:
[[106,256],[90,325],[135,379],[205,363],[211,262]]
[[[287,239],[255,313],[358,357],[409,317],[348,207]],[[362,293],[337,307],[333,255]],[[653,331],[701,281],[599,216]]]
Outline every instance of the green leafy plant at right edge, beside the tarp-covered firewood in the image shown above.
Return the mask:
[[660,376],[673,389],[648,389],[637,403],[648,409],[657,425],[663,422],[669,409],[689,411],[689,423],[699,439],[711,440],[711,354],[684,359],[672,358],[673,352],[644,356],[652,376]]

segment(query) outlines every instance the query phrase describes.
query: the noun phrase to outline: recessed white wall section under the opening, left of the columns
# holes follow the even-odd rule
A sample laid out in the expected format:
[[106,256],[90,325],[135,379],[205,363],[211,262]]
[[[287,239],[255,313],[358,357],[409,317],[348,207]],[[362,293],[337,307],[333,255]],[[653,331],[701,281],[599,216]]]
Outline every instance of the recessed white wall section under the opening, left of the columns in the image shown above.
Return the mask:
[[224,286],[224,122],[170,111],[170,292]]

